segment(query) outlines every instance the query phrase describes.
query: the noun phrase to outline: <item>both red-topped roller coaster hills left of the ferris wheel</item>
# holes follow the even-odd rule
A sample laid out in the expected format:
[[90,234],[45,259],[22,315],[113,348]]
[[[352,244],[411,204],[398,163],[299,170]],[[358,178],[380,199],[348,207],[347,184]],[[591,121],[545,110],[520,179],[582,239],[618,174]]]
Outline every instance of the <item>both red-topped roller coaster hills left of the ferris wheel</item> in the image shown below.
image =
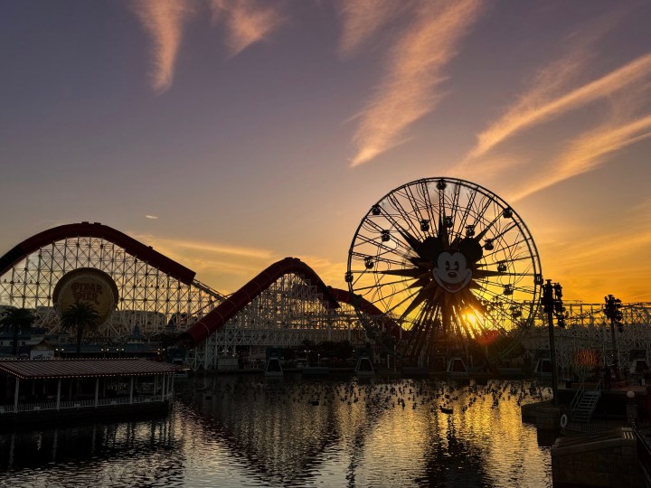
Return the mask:
[[33,327],[60,343],[65,332],[53,300],[55,286],[71,271],[85,268],[106,273],[119,296],[116,309],[88,343],[112,349],[117,344],[124,351],[134,340],[181,338],[189,347],[184,361],[200,370],[216,369],[220,358],[243,351],[253,355],[268,346],[367,341],[346,303],[348,293],[325,286],[297,258],[278,261],[223,296],[150,246],[89,222],[42,231],[0,257],[0,309],[33,310]]

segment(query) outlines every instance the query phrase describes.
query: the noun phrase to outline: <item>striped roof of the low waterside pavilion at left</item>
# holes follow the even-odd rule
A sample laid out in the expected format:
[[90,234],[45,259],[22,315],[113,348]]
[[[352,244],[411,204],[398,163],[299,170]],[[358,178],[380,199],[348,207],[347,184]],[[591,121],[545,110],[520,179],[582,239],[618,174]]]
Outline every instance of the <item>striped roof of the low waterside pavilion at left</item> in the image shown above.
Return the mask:
[[167,362],[141,359],[81,359],[0,361],[0,371],[21,380],[35,378],[97,378],[99,376],[148,376],[184,370]]

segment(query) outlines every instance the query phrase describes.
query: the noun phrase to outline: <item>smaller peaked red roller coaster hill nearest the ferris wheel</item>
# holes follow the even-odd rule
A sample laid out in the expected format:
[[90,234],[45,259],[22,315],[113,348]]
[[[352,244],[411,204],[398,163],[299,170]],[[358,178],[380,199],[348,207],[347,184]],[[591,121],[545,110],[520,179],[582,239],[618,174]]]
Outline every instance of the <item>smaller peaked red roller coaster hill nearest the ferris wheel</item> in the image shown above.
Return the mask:
[[[336,296],[336,298],[335,298]],[[308,341],[364,343],[348,294],[325,286],[311,267],[285,258],[267,267],[180,336],[194,369],[212,368],[242,347],[297,347]]]

